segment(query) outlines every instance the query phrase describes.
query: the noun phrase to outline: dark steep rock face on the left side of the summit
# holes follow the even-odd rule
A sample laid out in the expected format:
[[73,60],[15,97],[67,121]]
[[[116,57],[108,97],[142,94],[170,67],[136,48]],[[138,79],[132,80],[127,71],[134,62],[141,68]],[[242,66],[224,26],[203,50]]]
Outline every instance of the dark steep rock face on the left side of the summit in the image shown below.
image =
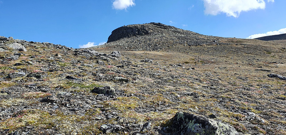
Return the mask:
[[114,31],[112,31],[111,35],[108,37],[108,41],[116,41],[118,39],[122,39],[124,37],[134,37],[134,36],[143,36],[148,35],[149,31],[146,27],[142,26],[122,26]]

